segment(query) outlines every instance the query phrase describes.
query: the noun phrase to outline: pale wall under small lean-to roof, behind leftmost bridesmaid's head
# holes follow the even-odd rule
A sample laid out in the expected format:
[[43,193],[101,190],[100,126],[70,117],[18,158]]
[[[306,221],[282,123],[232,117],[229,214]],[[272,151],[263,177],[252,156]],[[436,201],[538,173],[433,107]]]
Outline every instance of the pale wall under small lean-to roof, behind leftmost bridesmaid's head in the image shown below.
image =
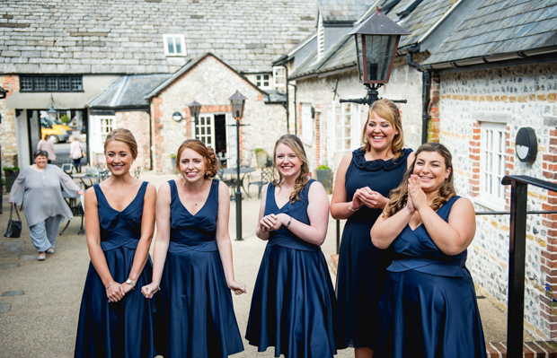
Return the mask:
[[116,112],[114,128],[128,128],[136,137],[137,159],[132,168],[140,166],[143,170],[151,168],[151,118],[144,111]]

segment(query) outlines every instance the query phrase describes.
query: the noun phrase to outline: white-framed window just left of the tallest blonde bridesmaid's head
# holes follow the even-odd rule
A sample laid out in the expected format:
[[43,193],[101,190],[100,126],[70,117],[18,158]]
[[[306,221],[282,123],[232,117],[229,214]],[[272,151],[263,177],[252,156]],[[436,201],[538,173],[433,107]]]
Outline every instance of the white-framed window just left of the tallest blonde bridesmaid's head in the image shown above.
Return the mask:
[[332,108],[334,109],[334,151],[345,153],[359,148],[361,105],[335,101]]

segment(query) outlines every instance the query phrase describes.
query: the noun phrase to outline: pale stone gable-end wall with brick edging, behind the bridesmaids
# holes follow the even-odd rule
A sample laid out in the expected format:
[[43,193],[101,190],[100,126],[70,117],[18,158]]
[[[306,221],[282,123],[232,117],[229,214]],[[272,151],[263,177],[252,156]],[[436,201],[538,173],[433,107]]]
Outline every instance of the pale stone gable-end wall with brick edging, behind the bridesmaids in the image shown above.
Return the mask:
[[[236,74],[216,57],[208,56],[181,78],[159,93],[151,102],[154,168],[157,173],[172,170],[170,155],[180,144],[192,137],[190,109],[192,100],[201,103],[201,113],[227,113],[230,115],[230,96],[239,91],[247,97],[241,127],[241,161],[255,165],[254,148],[272,153],[280,135],[287,132],[286,112],[281,105],[267,105],[263,94]],[[181,112],[182,119],[175,122],[172,113]],[[232,129],[232,127],[231,127]]]

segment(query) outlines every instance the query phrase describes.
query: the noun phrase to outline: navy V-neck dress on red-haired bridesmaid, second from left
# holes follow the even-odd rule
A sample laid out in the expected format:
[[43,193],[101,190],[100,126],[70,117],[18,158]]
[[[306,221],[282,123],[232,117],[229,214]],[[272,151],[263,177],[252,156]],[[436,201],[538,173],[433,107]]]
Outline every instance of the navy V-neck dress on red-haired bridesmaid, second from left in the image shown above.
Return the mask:
[[243,351],[232,293],[217,248],[218,185],[212,179],[195,215],[171,188],[170,243],[157,301],[157,352],[172,357],[227,357]]

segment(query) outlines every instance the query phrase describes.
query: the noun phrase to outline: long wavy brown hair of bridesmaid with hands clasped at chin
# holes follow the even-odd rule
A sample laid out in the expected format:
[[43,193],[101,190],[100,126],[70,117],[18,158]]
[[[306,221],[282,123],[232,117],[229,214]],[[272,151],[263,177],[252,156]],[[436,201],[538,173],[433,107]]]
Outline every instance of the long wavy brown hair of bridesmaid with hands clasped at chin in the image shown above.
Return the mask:
[[401,184],[391,190],[389,197],[389,204],[385,207],[385,211],[383,216],[385,218],[393,216],[394,214],[398,213],[402,210],[402,208],[408,202],[408,179],[410,179],[411,174],[414,172],[414,166],[416,161],[418,160],[418,155],[422,152],[435,152],[439,153],[443,160],[445,161],[445,168],[450,169],[450,173],[448,174],[448,178],[443,181],[441,188],[439,188],[438,197],[433,200],[431,204],[431,208],[435,211],[438,210],[441,205],[445,204],[451,197],[456,196],[455,192],[455,184],[453,182],[453,156],[451,153],[446,149],[446,146],[443,144],[438,143],[426,143],[421,144],[420,148],[416,151],[416,157],[414,158],[414,162],[412,162],[411,167],[406,171],[404,177],[402,178]]

